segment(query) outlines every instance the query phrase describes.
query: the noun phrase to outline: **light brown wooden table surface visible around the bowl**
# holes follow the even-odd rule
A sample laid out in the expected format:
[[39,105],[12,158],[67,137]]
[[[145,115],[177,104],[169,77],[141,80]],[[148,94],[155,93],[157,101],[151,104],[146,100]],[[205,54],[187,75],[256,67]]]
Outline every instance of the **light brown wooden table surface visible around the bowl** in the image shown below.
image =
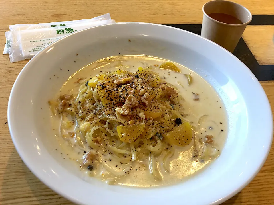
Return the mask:
[[[152,22],[160,24],[199,24],[202,5],[207,0],[9,0],[1,2],[0,45],[4,32],[12,24],[34,24],[88,19],[110,13],[116,22]],[[273,0],[236,0],[253,15],[273,15]],[[254,35],[255,34],[255,35]],[[249,26],[243,39],[261,65],[274,64],[274,26]],[[272,51],[272,52],[271,52]],[[28,60],[10,63],[0,55],[0,204],[72,204],[44,185],[19,157],[9,134],[7,104],[12,85]],[[264,64],[265,63],[265,64]],[[274,110],[274,81],[261,81]],[[260,137],[260,136],[258,136]],[[258,175],[241,192],[223,204],[274,204],[274,147]]]

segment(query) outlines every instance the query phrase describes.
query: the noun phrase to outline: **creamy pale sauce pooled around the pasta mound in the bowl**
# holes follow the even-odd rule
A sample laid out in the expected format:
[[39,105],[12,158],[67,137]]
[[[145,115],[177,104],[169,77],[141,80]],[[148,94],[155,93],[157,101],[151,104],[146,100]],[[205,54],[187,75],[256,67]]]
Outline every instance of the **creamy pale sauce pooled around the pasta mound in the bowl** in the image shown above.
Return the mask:
[[[181,73],[156,68],[151,65],[161,65],[167,60],[135,55],[135,56],[114,56],[94,62],[74,73],[68,81],[63,85],[58,95],[60,94],[76,94],[80,85],[75,86],[75,81],[83,78],[82,81],[88,81],[98,73],[106,71],[115,71],[116,69],[126,69],[131,72],[136,72],[138,67],[154,67],[152,71],[157,72],[164,81],[174,85],[178,89],[178,93],[184,98],[184,118],[191,122],[196,127],[196,140],[204,139],[206,135],[214,137],[214,147],[221,151],[227,137],[227,117],[224,105],[217,95],[216,91],[199,75],[189,70],[188,68],[174,63],[181,70]],[[102,71],[102,72],[101,72]],[[187,78],[184,74],[190,74],[193,82],[189,86]],[[199,94],[199,100],[194,101],[195,94]],[[201,118],[202,117],[202,118]],[[199,124],[200,119],[200,126]],[[88,152],[88,148],[84,149],[77,145],[76,142],[66,141],[59,136],[60,119],[53,118],[53,129],[57,136],[57,141],[60,145],[60,152],[63,156],[74,160],[80,165],[84,151]],[[110,183],[118,183],[128,186],[158,186],[178,183],[182,179],[187,179],[193,173],[197,173],[205,167],[212,159],[197,159],[193,158],[194,141],[188,147],[177,147],[175,154],[169,159],[170,172],[166,172],[160,163],[157,167],[160,171],[160,176],[152,176],[148,171],[148,159],[143,162],[134,162],[132,167],[122,165],[119,161],[114,160],[111,155],[104,156],[104,167],[111,167],[117,171],[117,176],[124,175],[113,179],[110,177],[106,168],[87,171],[82,169],[91,176],[96,176],[99,179],[106,180]],[[162,159],[160,155],[157,159]],[[109,159],[112,159],[109,161]],[[159,160],[162,161],[162,160]],[[100,165],[102,166],[102,165]],[[126,172],[126,174],[125,174]],[[110,177],[110,178],[109,178]],[[157,179],[162,178],[162,180]]]

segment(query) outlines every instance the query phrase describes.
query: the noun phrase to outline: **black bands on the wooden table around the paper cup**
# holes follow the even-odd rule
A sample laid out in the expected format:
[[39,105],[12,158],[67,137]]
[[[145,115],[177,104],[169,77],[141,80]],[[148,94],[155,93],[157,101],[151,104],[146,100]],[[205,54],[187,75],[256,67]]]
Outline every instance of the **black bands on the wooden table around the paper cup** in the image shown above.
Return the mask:
[[[274,25],[274,15],[253,15],[249,25]],[[167,24],[167,26],[187,30],[198,35],[201,34],[202,28],[202,24]],[[274,80],[274,65],[259,65],[243,38],[239,40],[233,54],[252,71],[259,81]]]

